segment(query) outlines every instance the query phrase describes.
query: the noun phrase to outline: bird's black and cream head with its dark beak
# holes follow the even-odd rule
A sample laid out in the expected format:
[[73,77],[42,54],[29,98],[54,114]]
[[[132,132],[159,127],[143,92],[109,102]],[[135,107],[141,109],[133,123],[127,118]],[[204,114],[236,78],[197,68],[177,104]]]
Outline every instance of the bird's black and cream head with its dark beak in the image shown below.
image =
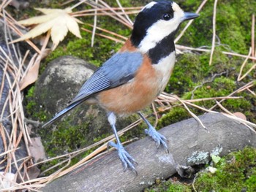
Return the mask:
[[135,19],[131,36],[132,45],[146,53],[170,34],[174,37],[182,21],[197,16],[184,12],[173,1],[152,1],[141,9]]

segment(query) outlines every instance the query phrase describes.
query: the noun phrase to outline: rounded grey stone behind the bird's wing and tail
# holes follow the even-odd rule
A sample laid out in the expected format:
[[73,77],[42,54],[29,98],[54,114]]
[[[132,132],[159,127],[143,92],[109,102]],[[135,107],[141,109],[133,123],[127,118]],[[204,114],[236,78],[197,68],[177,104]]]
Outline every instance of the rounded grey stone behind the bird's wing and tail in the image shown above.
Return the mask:
[[37,104],[45,107],[51,115],[63,110],[95,69],[95,66],[72,56],[56,58],[37,80]]

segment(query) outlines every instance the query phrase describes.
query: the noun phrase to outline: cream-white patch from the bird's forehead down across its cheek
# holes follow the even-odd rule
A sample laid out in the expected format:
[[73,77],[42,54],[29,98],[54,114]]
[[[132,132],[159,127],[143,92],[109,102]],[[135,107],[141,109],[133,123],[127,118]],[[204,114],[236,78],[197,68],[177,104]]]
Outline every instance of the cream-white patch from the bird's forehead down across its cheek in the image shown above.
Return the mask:
[[172,19],[158,20],[146,31],[146,37],[144,37],[138,46],[142,53],[147,53],[148,50],[155,47],[158,42],[167,37],[173,31],[176,31],[179,24],[182,22],[184,11],[174,2],[172,6],[174,10]]

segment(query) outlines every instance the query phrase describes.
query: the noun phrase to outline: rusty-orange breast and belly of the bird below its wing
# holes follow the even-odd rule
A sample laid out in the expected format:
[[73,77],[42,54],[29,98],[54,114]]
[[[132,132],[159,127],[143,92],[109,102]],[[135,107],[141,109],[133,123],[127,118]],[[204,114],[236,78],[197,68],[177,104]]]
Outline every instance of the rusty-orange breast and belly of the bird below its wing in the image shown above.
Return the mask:
[[156,99],[162,77],[154,70],[148,57],[144,57],[143,61],[133,80],[97,95],[103,108],[118,115],[126,115],[142,110]]

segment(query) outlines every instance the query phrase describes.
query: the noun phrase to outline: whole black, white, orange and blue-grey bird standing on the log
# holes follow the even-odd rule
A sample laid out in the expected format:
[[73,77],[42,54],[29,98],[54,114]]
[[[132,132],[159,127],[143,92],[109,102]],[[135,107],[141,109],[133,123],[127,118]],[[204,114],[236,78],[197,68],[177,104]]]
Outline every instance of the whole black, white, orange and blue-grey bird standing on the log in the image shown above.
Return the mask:
[[[66,109],[44,126],[49,126],[82,102],[97,103],[104,108],[116,137],[108,146],[118,150],[124,166],[135,171],[135,159],[124,149],[116,131],[116,115],[138,112],[148,128],[145,130],[157,146],[167,150],[167,139],[143,117],[140,110],[151,104],[164,90],[176,60],[174,37],[184,20],[197,18],[184,12],[173,1],[152,1],[137,17],[129,37],[121,50],[97,69]],[[136,171],[135,171],[136,172]]]

